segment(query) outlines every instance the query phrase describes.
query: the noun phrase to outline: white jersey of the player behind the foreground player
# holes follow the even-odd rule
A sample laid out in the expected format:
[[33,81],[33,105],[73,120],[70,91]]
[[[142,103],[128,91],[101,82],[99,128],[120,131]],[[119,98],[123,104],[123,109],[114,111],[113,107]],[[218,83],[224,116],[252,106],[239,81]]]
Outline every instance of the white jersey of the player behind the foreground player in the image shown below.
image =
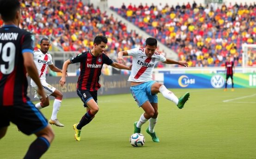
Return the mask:
[[[52,65],[52,56],[49,53],[43,54],[43,52],[38,49],[34,50],[34,62],[37,66],[37,72],[39,75],[39,78],[41,80],[42,85],[46,83],[45,74],[47,71],[48,65]],[[36,83],[31,79],[30,85],[32,87],[37,86]]]

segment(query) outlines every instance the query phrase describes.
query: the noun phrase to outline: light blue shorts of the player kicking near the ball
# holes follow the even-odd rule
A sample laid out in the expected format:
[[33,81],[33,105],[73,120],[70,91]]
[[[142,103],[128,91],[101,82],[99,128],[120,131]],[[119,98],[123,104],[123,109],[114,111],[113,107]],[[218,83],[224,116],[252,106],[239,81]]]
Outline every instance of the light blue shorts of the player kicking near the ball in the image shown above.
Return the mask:
[[132,95],[139,107],[146,101],[149,101],[150,103],[158,103],[157,94],[151,94],[151,86],[155,82],[156,81],[151,80],[140,85],[130,87]]

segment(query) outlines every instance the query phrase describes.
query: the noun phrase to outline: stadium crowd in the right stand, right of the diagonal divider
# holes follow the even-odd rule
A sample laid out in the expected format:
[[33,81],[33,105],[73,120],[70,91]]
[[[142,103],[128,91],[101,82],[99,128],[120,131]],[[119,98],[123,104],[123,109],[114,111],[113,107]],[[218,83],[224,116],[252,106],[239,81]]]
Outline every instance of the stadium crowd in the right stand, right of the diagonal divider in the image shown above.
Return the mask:
[[[231,55],[242,65],[242,44],[256,44],[256,3],[110,7],[178,53],[189,66],[224,66]],[[256,53],[247,63],[256,65]]]

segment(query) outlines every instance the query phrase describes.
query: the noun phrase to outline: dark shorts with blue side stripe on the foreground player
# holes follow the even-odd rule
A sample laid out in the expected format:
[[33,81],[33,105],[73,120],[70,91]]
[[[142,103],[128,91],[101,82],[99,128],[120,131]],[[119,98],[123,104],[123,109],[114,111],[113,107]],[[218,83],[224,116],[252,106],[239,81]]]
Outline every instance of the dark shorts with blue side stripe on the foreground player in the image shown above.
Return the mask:
[[0,106],[0,128],[9,126],[10,122],[26,135],[41,131],[48,125],[47,119],[30,101],[19,105]]

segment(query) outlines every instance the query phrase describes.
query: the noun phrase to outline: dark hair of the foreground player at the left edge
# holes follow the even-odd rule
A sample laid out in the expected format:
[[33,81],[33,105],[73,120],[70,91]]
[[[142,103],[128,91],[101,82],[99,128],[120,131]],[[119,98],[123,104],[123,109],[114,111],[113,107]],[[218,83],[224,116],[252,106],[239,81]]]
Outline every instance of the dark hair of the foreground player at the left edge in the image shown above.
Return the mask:
[[4,22],[12,21],[19,9],[18,0],[0,0],[0,14]]

